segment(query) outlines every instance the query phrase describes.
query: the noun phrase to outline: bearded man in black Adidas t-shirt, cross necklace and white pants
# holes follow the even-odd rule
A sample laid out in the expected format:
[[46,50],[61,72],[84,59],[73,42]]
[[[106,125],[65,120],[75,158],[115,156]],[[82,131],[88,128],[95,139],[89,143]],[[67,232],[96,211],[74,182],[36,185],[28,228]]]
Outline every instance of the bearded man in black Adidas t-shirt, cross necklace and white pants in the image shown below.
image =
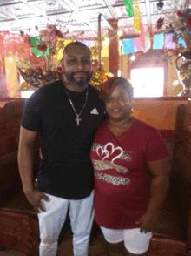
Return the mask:
[[[38,89],[26,102],[18,165],[23,192],[38,212],[40,256],[55,256],[69,209],[75,256],[87,256],[94,219],[93,171],[89,152],[104,105],[89,86],[92,58],[80,42],[63,51],[63,81]],[[34,186],[32,161],[37,132],[43,159]]]

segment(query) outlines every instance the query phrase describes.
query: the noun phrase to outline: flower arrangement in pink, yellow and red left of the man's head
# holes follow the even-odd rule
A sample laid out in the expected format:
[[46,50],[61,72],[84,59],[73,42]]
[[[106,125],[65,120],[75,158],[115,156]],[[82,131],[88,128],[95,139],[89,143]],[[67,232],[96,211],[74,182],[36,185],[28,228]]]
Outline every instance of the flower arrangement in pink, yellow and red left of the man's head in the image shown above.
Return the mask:
[[42,54],[36,57],[31,48],[29,60],[17,61],[17,68],[27,84],[40,88],[44,84],[61,79],[63,49],[72,41],[75,40],[64,38],[63,33],[56,29],[56,25],[48,25],[45,30],[41,30],[36,50]]

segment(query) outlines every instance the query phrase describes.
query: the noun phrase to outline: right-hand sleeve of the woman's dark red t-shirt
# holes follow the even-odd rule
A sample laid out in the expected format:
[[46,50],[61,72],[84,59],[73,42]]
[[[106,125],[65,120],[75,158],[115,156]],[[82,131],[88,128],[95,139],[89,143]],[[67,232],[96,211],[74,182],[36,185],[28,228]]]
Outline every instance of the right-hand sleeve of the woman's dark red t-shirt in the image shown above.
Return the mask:
[[147,145],[146,159],[147,161],[158,161],[168,157],[167,145],[164,138],[158,130],[150,133]]

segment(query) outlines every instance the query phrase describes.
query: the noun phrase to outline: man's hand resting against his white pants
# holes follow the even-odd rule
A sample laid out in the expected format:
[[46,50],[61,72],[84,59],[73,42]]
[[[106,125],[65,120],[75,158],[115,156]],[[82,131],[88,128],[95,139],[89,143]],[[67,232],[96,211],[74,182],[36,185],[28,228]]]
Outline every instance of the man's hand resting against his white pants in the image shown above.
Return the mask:
[[25,192],[25,195],[37,213],[40,213],[40,210],[46,212],[42,200],[49,202],[50,199],[43,192],[34,188],[31,192]]

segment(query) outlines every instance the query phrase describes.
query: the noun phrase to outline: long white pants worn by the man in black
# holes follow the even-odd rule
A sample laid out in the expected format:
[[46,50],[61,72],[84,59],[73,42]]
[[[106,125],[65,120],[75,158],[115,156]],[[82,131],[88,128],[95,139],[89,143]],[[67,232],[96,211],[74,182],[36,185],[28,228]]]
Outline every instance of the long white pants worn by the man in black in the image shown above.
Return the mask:
[[68,200],[46,194],[43,200],[46,212],[38,214],[40,230],[40,256],[56,256],[57,240],[69,209],[75,256],[88,256],[89,237],[94,219],[94,191],[81,200]]

